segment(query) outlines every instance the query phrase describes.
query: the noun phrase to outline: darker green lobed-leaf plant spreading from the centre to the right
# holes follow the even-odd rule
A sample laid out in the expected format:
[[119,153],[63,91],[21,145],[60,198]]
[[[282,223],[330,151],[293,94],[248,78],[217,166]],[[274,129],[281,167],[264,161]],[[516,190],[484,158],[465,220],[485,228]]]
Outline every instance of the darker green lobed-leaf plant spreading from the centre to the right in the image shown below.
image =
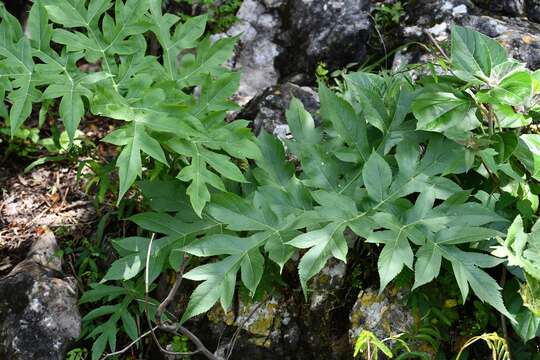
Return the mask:
[[[214,260],[183,274],[202,283],[193,292],[182,323],[218,301],[229,308],[237,272],[243,285],[255,293],[268,261],[263,253],[282,268],[296,249],[305,249],[298,270],[308,296],[309,280],[326,261],[331,257],[345,261],[349,245],[362,238],[382,247],[381,291],[404,267],[415,270],[413,288],[429,283],[444,260],[453,270],[463,302],[471,289],[515,321],[503,304],[500,286],[484,269],[501,263],[488,254],[489,244],[502,236],[500,230],[508,224],[505,216],[516,211],[508,205],[498,207],[497,199],[520,195],[507,195],[502,187],[528,188],[528,172],[519,155],[495,150],[501,151],[504,139],[511,145],[512,137],[518,146],[517,134],[513,130],[495,134],[490,126],[493,118],[478,99],[508,96],[508,81],[495,84],[488,79],[491,92],[477,88],[483,81],[478,77],[482,75],[479,62],[484,66],[486,60],[469,49],[483,47],[490,54],[489,66],[508,62],[515,71],[508,76],[528,74],[530,81],[524,84],[530,94],[522,101],[533,96],[532,76],[507,60],[493,40],[459,27],[453,36],[453,71],[469,82],[440,76],[412,85],[405,76],[351,73],[345,76],[343,94],[321,84],[322,127],[314,126],[298,100],[287,112],[293,134],[287,148],[299,159],[301,173],[286,160],[282,144],[263,133],[258,139],[263,156],[249,172],[252,184],[213,195],[201,212],[202,219],[186,214],[181,201],[167,209],[176,213],[174,217],[149,212],[131,218],[143,229],[165,235],[153,242],[156,255],[148,263],[155,275],[150,281],[167,258],[177,269],[174,259],[182,253]],[[505,123],[501,129],[508,126]],[[505,164],[507,160],[515,162]],[[486,166],[491,167],[486,170]],[[478,174],[477,183],[465,185],[472,181],[468,172]],[[509,178],[503,178],[506,174]],[[180,183],[167,184],[182,193]],[[148,185],[154,190],[164,186]],[[347,228],[359,238],[347,240],[343,235]],[[128,279],[143,271],[151,239],[138,241],[138,249],[113,264],[105,280]],[[130,269],[127,276],[126,268]]]

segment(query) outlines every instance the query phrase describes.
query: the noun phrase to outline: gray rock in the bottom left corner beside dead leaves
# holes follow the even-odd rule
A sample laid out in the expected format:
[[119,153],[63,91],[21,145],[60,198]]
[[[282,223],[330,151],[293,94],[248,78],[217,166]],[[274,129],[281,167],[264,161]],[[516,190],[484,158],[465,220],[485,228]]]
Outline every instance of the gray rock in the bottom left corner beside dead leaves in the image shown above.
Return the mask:
[[0,359],[61,360],[69,341],[79,336],[77,287],[62,275],[56,251],[47,231],[0,279]]

